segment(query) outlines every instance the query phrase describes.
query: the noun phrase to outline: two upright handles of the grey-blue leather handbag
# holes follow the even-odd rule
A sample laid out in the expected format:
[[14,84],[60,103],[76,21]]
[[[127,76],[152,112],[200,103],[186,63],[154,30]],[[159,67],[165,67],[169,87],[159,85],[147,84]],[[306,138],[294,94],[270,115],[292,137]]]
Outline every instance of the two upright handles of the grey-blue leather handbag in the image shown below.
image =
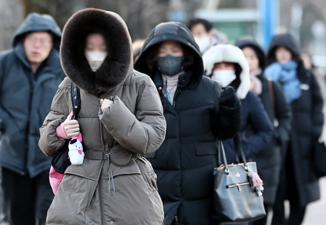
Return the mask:
[[[239,163],[239,152],[240,152],[240,156],[244,164],[244,169],[248,170],[246,156],[244,156],[243,148],[238,134],[233,138],[233,144],[234,144],[234,152],[235,152],[235,158],[237,163]],[[218,156],[219,166],[222,165],[221,149],[222,149],[222,155],[223,155],[223,160],[225,165],[225,172],[228,174],[229,167],[228,167],[228,162],[226,160],[225,149],[224,149],[222,139],[221,137],[219,137],[219,156]]]

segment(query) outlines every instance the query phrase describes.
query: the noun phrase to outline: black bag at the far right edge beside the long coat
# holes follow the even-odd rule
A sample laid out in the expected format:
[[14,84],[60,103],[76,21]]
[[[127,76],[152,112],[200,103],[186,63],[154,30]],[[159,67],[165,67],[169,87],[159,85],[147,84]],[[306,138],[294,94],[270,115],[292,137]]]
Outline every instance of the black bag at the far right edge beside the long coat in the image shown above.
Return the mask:
[[326,146],[324,142],[316,141],[314,146],[313,168],[317,178],[326,176]]

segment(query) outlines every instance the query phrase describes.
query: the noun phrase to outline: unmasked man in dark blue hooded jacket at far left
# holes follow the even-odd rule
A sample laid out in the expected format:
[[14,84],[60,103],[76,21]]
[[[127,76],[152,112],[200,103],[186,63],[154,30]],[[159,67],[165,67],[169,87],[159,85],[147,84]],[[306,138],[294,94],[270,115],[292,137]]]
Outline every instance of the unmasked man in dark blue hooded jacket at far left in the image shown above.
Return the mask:
[[0,166],[10,224],[45,224],[54,196],[48,179],[51,161],[38,140],[65,77],[60,40],[51,16],[32,13],[17,30],[13,49],[0,54]]

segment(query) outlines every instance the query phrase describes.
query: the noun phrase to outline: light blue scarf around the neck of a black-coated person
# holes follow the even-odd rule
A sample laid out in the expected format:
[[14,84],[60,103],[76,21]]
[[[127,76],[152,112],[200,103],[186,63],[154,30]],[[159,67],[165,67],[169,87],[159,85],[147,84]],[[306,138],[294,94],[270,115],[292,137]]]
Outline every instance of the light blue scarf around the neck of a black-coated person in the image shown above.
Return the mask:
[[266,67],[264,76],[271,78],[283,84],[286,101],[292,103],[295,99],[301,97],[300,81],[296,74],[297,62],[291,60],[288,63],[281,64],[275,62]]

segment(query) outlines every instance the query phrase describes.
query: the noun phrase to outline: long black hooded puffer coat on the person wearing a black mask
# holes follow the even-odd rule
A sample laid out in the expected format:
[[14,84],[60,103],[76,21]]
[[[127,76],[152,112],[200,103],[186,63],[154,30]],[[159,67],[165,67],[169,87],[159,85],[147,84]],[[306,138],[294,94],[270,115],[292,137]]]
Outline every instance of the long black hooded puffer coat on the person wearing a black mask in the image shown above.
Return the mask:
[[241,122],[239,99],[230,107],[220,105],[218,83],[203,77],[203,61],[191,32],[181,23],[160,23],[147,37],[135,69],[148,72],[146,59],[152,47],[178,41],[194,57],[192,69],[180,74],[174,107],[162,93],[161,74],[151,74],[164,106],[167,135],[158,150],[147,159],[157,174],[157,186],[164,204],[164,224],[211,224],[213,169],[216,141],[238,133]]

